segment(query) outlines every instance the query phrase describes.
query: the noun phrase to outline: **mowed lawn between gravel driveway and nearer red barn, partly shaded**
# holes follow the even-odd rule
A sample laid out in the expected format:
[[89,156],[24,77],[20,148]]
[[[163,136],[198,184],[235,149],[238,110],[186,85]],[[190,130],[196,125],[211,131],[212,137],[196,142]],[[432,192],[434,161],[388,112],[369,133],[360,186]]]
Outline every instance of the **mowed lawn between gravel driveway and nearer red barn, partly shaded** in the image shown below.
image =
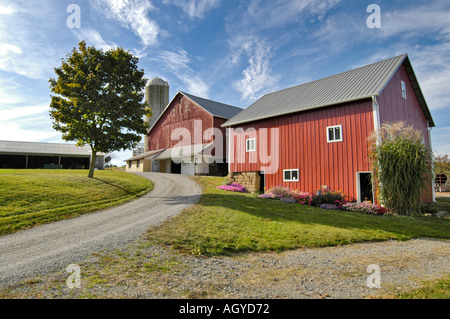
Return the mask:
[[196,180],[203,187],[199,203],[151,228],[150,243],[214,256],[389,239],[450,238],[449,219],[324,210],[218,190],[223,178]]

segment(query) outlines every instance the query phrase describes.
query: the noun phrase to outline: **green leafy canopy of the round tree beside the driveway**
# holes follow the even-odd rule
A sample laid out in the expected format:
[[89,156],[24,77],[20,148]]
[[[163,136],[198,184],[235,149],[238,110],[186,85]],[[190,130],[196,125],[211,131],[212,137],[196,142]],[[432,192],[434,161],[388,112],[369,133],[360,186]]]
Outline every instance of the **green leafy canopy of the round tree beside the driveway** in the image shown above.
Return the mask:
[[84,41],[50,79],[50,116],[63,139],[95,152],[129,149],[145,134],[144,72],[122,48],[103,52]]

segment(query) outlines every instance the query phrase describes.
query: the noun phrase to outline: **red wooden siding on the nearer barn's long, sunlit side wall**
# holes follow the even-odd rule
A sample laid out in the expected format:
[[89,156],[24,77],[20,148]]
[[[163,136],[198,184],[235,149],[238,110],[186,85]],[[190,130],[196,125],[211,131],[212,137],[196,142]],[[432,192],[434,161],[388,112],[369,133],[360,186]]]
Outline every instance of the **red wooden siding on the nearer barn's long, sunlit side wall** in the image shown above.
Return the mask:
[[[279,167],[276,173],[266,174],[267,188],[281,185],[315,193],[321,185],[327,185],[356,198],[356,172],[369,171],[366,139],[374,129],[373,123],[372,101],[363,100],[234,127],[255,131],[230,136],[230,171],[262,170],[264,164],[259,154],[273,155],[270,129],[278,128]],[[342,125],[343,141],[327,143],[327,127],[334,125]],[[268,129],[268,142],[260,143],[260,130],[264,128]],[[256,152],[246,152],[248,137],[242,135],[257,138]],[[244,142],[238,143],[238,139]],[[285,169],[298,169],[299,181],[283,182]]]

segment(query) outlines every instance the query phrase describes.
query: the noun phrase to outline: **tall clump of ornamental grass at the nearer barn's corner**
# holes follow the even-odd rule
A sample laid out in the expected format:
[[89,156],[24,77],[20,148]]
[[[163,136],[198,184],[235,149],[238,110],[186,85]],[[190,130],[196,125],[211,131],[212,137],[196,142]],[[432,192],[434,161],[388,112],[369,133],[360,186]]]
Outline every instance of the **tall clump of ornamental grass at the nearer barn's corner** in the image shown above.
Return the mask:
[[404,122],[384,124],[373,132],[369,160],[381,203],[398,214],[417,212],[431,188],[432,159],[422,132]]

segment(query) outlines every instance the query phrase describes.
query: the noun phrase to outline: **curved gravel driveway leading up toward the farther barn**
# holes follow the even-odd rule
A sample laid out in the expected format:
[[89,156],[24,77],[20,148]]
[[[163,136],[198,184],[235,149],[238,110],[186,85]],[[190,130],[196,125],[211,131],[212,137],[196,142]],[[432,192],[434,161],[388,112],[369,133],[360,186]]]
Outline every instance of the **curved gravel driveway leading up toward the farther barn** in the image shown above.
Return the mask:
[[200,197],[200,186],[189,177],[136,174],[150,179],[154,190],[118,207],[0,237],[0,287],[65,269],[92,252],[122,248]]

